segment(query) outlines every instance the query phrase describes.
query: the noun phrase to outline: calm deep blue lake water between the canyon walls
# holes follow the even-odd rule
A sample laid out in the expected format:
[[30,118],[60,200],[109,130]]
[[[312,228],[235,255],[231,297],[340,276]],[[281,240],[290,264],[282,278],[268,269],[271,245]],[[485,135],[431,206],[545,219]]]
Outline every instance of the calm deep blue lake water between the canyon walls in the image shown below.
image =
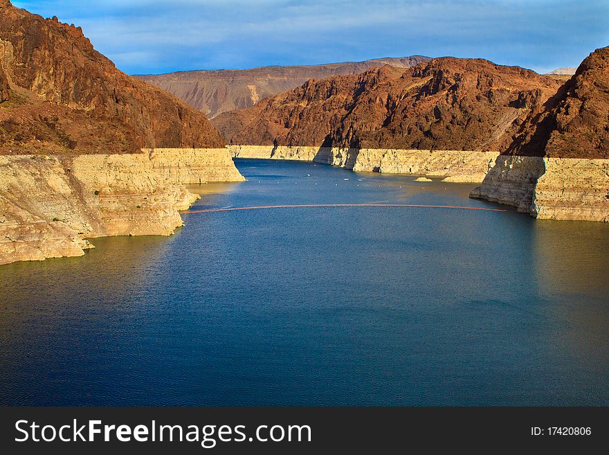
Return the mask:
[[[466,184],[238,160],[193,209],[498,207]],[[348,179],[348,180],[347,180]],[[515,212],[184,215],[0,267],[0,403],[609,404],[609,226]]]

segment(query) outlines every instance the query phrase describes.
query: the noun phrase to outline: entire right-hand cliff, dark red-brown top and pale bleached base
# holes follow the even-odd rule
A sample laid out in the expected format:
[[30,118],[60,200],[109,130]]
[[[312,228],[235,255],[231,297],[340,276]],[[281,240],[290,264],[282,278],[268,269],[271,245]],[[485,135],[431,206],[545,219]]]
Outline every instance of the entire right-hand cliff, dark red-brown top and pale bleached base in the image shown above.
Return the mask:
[[472,197],[539,218],[609,220],[609,48],[532,112]]

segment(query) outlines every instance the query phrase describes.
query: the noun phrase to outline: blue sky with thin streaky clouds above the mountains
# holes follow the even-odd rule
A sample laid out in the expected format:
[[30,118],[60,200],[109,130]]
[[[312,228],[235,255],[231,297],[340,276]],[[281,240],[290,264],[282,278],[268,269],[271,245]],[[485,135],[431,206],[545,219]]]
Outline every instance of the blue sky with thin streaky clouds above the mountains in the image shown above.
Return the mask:
[[13,0],[127,73],[483,57],[546,72],[609,45],[608,0]]

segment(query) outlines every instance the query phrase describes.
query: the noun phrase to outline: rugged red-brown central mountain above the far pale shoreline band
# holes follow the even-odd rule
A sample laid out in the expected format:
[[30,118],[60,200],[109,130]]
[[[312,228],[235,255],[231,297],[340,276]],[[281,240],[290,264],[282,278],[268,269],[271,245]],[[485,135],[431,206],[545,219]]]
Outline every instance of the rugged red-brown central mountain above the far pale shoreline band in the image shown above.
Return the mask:
[[309,80],[213,122],[233,144],[505,150],[559,86],[519,67],[444,57]]

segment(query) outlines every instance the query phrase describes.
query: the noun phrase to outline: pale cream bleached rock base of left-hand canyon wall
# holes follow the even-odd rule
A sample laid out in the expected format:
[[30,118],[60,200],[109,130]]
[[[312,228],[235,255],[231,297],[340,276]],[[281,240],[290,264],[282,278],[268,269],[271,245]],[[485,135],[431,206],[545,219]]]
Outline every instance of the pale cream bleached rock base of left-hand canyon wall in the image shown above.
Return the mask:
[[82,256],[86,238],[170,235],[198,199],[183,184],[219,179],[243,179],[226,149],[0,156],[0,264]]

